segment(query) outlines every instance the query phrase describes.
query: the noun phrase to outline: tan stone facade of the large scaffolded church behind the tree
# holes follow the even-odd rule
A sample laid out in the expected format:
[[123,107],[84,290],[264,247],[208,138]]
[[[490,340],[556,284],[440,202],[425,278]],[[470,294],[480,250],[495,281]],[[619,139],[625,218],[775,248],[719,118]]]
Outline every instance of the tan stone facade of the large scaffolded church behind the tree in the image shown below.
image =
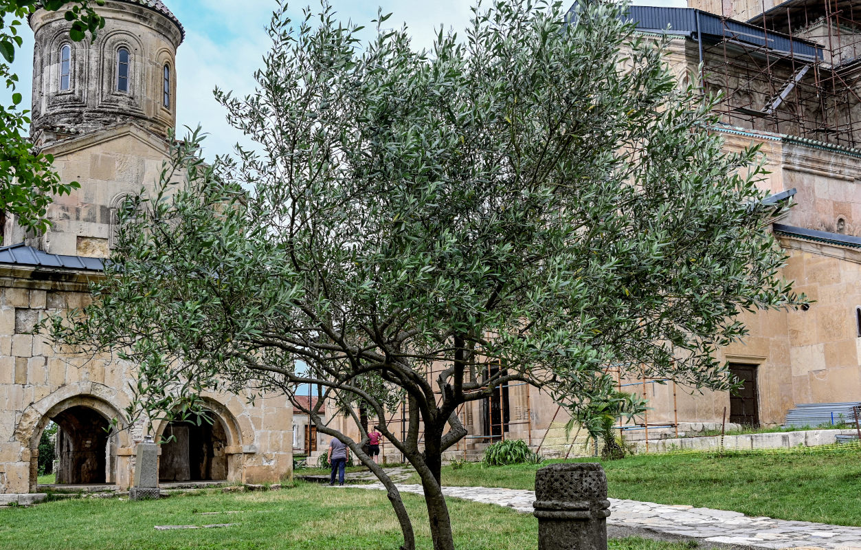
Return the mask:
[[[815,5],[817,2],[808,3],[811,13],[821,10],[821,6]],[[742,22],[776,4],[772,0],[690,1],[691,8]],[[771,26],[782,24],[777,17],[771,15]],[[861,43],[858,27],[828,35],[825,23],[813,20],[810,23],[798,27],[796,32],[798,38],[815,41],[822,48],[822,59],[804,75],[808,80],[814,78],[815,71],[855,57]],[[656,28],[666,26],[656,24]],[[719,351],[717,359],[753,372],[748,384],[752,384],[748,387],[752,395],[748,398],[753,398],[751,406],[755,410],[746,418],[753,419],[750,422],[776,425],[784,422],[787,412],[796,404],[861,401],[861,239],[858,239],[861,150],[840,145],[859,138],[846,137],[846,133],[822,134],[825,141],[799,137],[810,130],[811,124],[822,121],[817,121],[817,105],[810,103],[809,97],[798,99],[792,95],[801,93],[798,90],[790,90],[787,100],[773,116],[746,115],[740,109],[761,110],[774,98],[775,91],[769,83],[753,78],[756,72],[763,71],[761,59],[756,55],[765,53],[748,54],[737,45],[722,49],[713,44],[701,50],[691,35],[684,36],[676,30],[678,34],[667,37],[666,60],[679,83],[691,82],[691,74],[697,74],[702,55],[705,90],[723,91],[728,97],[721,111],[722,124],[715,127],[715,132],[722,134],[727,150],[738,151],[759,144],[771,172],[759,182],[760,187],[771,195],[796,190],[792,198],[795,207],[775,220],[775,234],[789,256],[782,275],[794,282],[796,291],[805,293],[814,302],[808,309],[744,314],[741,319],[750,334],[743,342]],[[729,57],[732,59],[728,61]],[[768,66],[775,82],[786,82],[796,74],[797,59],[775,54]],[[846,68],[846,71],[857,70]],[[861,91],[858,78],[845,81],[855,83],[853,93]],[[773,88],[775,84],[770,85]],[[832,122],[861,120],[861,114],[856,112],[861,109],[861,102],[852,97],[838,100],[836,95],[830,99]],[[802,111],[793,111],[793,104]],[[829,137],[832,135],[834,139]],[[811,236],[809,230],[821,233]],[[623,379],[620,384],[623,391],[635,391],[647,398],[651,409],[647,418],[641,417],[637,422],[650,425],[652,439],[674,434],[672,425],[691,432],[702,430],[703,423],[711,428],[719,428],[724,420],[728,427],[740,423],[732,420],[735,402],[728,392],[700,392],[670,381],[659,384],[636,378]],[[458,451],[498,441],[503,435],[501,425],[505,426],[502,430],[505,438],[523,439],[537,447],[549,434],[551,424],[558,427],[568,420],[565,411],[558,410],[546,394],[520,384],[512,384],[492,400],[465,405],[460,416],[469,435],[456,447]],[[387,419],[389,428],[400,434],[405,417],[400,409],[394,411],[391,419]],[[340,422],[348,434],[358,434],[349,419]],[[491,423],[497,428],[491,428]],[[631,428],[634,429],[625,432],[627,438],[645,437],[642,426]],[[561,433],[561,428],[555,431]],[[561,435],[557,439],[564,441]],[[391,446],[388,449],[393,453]],[[397,453],[393,454],[397,458]]]

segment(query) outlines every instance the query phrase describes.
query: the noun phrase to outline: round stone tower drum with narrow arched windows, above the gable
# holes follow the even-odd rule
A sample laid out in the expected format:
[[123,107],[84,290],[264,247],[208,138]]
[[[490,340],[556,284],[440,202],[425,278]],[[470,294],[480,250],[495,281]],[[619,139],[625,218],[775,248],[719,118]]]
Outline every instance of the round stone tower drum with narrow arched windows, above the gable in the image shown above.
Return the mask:
[[167,135],[177,121],[175,59],[183,26],[159,0],[107,0],[96,41],[74,42],[64,10],[30,17],[34,144],[133,122]]

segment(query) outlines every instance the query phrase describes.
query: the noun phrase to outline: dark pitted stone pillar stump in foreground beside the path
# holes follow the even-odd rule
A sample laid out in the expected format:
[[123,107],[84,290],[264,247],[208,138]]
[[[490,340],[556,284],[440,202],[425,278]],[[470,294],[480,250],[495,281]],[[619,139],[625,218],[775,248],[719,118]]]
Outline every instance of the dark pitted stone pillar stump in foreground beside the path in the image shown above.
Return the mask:
[[538,550],[607,550],[607,478],[600,464],[554,464],[536,472]]

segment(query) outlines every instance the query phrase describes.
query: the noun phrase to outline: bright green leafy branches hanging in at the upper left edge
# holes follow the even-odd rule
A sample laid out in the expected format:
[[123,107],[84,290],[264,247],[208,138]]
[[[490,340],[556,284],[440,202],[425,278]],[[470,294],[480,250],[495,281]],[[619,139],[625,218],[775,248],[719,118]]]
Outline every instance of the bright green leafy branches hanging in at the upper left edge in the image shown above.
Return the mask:
[[[15,50],[23,40],[19,34],[23,19],[38,8],[56,11],[72,4],[65,18],[72,22],[71,39],[82,41],[86,34],[94,40],[96,31],[104,27],[104,19],[96,14],[88,0],[0,0],[0,82],[13,91],[12,104],[0,105],[0,211],[15,216],[22,227],[45,230],[47,207],[53,195],[64,195],[77,189],[77,182],[63,183],[52,171],[53,158],[35,151],[28,142],[25,128],[30,123],[29,111],[21,110],[22,95],[15,91],[18,75],[9,66],[15,60]],[[103,5],[103,0],[96,0]]]

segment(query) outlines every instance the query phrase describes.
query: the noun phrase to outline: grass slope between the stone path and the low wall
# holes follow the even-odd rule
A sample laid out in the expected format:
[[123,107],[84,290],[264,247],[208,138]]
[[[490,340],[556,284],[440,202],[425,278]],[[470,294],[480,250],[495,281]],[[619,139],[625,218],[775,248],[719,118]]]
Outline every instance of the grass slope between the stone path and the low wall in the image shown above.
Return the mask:
[[[594,462],[596,459],[579,459]],[[534,489],[539,466],[443,468],[443,484]],[[861,451],[640,455],[604,462],[610,497],[861,526]],[[406,483],[418,483],[413,475]]]

